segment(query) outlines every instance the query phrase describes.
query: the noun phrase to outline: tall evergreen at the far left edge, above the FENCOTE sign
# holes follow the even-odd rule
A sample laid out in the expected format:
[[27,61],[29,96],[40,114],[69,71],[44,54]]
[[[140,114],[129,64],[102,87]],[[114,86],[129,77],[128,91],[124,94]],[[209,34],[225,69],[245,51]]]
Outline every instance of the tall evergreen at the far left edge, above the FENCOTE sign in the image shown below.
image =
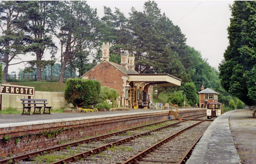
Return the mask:
[[[26,53],[24,42],[24,27],[28,23],[28,15],[25,14],[32,1],[1,1],[0,3],[0,53],[3,57],[4,67],[3,82],[6,82],[9,65],[13,58]],[[18,63],[22,63],[18,62]]]

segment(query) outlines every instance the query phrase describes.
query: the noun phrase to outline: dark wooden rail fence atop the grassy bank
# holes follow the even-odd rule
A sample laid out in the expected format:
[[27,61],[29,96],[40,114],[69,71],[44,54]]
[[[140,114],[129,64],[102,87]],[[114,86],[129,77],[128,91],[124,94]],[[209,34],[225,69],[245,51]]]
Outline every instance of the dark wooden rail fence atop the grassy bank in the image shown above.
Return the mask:
[[[28,79],[28,80],[35,80],[36,81],[36,75],[7,75],[7,78],[11,78],[11,79],[16,79],[16,80],[25,80],[25,79]],[[70,78],[70,77],[65,77],[63,79],[63,81],[67,81],[67,79]],[[74,78],[74,77],[72,77]],[[60,81],[60,76],[42,76],[42,80],[47,80],[47,81]]]

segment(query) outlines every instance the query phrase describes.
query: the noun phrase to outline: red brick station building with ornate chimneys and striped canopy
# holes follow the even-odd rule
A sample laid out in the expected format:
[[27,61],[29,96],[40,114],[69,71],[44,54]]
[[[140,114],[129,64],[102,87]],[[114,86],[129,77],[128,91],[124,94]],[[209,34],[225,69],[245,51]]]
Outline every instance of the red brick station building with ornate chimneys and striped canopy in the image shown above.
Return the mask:
[[[147,105],[152,101],[153,86],[180,86],[181,79],[169,74],[140,74],[134,70],[134,56],[128,51],[121,53],[121,63],[109,61],[109,43],[102,44],[102,60],[81,76],[93,79],[102,86],[116,89],[119,93],[118,104],[134,108],[139,104]],[[141,108],[141,106],[139,106]]]

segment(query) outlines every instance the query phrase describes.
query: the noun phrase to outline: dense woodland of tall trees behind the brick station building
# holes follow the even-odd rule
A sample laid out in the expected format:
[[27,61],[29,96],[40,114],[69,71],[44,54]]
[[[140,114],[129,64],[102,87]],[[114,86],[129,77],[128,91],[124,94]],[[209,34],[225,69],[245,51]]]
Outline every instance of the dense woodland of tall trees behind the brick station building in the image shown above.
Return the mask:
[[[42,75],[55,73],[62,83],[68,71],[70,76],[75,71],[81,76],[100,61],[102,42],[109,42],[110,61],[120,63],[120,52],[128,50],[135,56],[135,70],[139,73],[169,73],[182,79],[181,87],[156,88],[158,93],[185,94],[182,91],[194,85],[197,94],[204,84],[220,93],[221,103],[228,104],[232,99],[221,86],[219,72],[186,44],[179,26],[161,13],[154,1],[145,2],[143,12],[132,8],[129,18],[118,8],[111,11],[106,6],[104,16],[98,18],[97,10],[86,1],[1,1],[0,13],[4,82],[8,68],[17,64],[9,63],[24,55],[36,60],[20,61],[27,63],[20,73],[34,71],[37,81],[42,81]],[[51,60],[43,60],[46,55]],[[195,94],[186,95],[191,104],[196,102]]]

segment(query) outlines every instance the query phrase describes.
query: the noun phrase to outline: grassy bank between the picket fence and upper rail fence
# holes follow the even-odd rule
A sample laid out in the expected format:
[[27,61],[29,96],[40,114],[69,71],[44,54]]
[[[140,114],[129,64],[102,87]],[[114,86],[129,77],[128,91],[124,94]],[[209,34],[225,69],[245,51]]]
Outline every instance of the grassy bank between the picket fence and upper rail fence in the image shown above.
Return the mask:
[[32,86],[35,91],[64,92],[66,83],[44,82],[44,81],[15,81],[9,82],[11,85]]

